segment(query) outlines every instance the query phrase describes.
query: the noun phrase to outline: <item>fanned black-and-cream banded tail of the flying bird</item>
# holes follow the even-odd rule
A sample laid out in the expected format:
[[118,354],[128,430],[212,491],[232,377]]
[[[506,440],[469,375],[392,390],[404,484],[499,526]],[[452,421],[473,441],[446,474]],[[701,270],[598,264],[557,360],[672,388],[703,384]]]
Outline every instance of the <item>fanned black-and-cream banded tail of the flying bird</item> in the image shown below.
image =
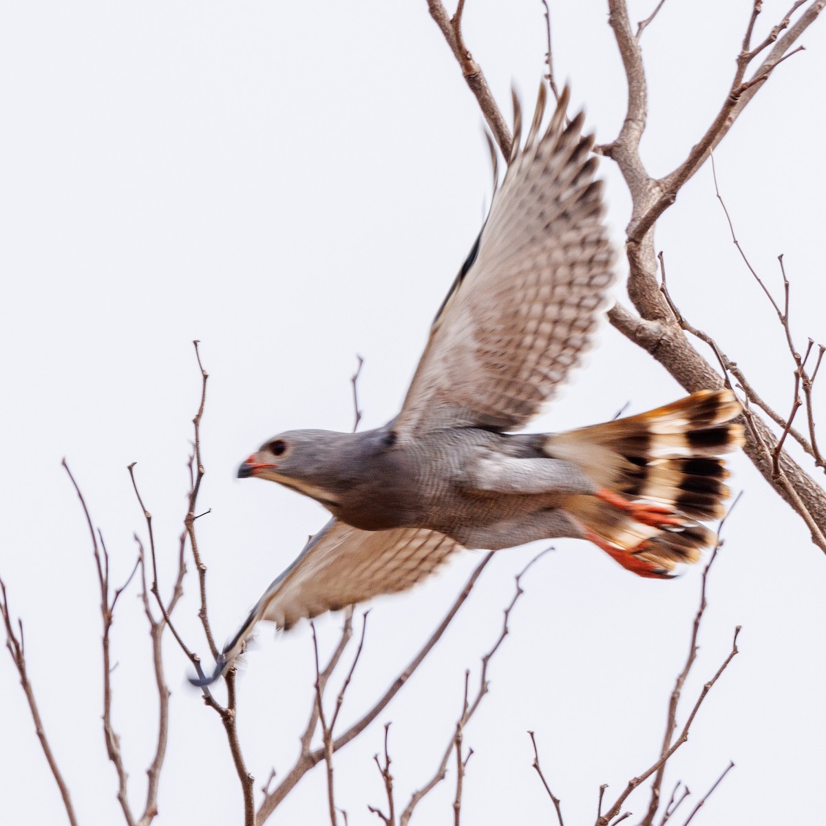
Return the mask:
[[695,563],[714,533],[729,476],[720,454],[743,445],[730,390],[702,390],[656,410],[548,436],[546,451],[577,463],[600,487],[572,496],[566,510],[586,539],[641,577],[669,577]]

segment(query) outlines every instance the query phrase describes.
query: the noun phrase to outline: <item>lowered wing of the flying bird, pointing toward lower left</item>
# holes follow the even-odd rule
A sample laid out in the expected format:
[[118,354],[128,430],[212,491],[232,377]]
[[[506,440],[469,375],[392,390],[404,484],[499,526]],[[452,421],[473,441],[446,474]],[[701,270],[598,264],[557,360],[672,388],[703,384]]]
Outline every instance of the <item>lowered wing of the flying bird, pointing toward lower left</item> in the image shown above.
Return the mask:
[[289,629],[299,619],[339,610],[379,594],[405,591],[428,577],[462,546],[434,530],[358,530],[330,520],[264,591],[227,643],[210,676],[190,680],[208,686],[230,667],[262,619]]

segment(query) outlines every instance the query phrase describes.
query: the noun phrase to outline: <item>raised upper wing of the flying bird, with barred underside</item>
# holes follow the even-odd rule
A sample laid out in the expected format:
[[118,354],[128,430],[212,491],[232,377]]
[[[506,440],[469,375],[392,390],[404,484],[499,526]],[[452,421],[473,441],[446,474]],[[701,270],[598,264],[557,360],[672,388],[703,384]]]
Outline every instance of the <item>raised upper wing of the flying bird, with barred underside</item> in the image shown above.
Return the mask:
[[582,113],[565,126],[567,88],[540,135],[534,121],[514,150],[472,254],[434,320],[394,430],[514,430],[537,415],[591,343],[612,278],[594,180],[593,136]]

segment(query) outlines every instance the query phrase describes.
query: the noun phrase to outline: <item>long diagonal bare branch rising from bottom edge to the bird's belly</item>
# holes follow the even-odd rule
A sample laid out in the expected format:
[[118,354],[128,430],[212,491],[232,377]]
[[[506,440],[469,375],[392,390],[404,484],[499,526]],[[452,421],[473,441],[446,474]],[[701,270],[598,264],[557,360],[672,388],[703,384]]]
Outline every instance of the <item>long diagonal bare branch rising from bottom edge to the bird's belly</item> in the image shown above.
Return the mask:
[[[459,608],[462,607],[464,601],[466,601],[468,596],[470,596],[473,586],[476,584],[477,579],[481,576],[482,571],[487,566],[487,563],[491,561],[491,558],[493,558],[493,553],[487,553],[482,559],[482,562],[477,565],[468,579],[468,582],[465,583],[463,590],[453,602],[453,605],[450,607],[447,615],[445,615],[444,619],[434,630],[433,634],[430,635],[427,642],[422,646],[422,648],[420,648],[419,653],[415,655],[405,670],[396,677],[396,679],[392,682],[392,685],[387,688],[387,691],[385,691],[384,694],[373,704],[371,709],[368,710],[366,714],[363,714],[363,716],[351,725],[349,729],[335,738],[333,741],[334,753],[337,752],[339,748],[344,748],[344,746],[346,746],[351,740],[358,737],[358,735],[362,733],[374,719],[376,719],[378,714],[382,713],[382,710],[387,707],[387,704],[393,699],[393,697],[401,691],[401,687],[410,680],[415,670],[425,660],[425,657],[427,657],[434,645],[439,642],[439,639],[442,637],[442,634],[444,634],[444,631],[448,628],[449,624],[453,621],[453,617],[456,615]],[[282,800],[284,800],[292,789],[295,788],[297,782],[301,780],[301,777],[303,777],[307,771],[310,771],[312,767],[316,766],[316,764],[320,762],[323,757],[324,748],[316,748],[316,750],[312,752],[309,750],[302,750],[297,762],[287,773],[287,776],[285,776],[281,783],[276,786],[272,793],[264,796],[264,799],[258,809],[256,823],[263,824],[263,822],[268,819],[270,814],[273,814],[273,811],[275,811]]]

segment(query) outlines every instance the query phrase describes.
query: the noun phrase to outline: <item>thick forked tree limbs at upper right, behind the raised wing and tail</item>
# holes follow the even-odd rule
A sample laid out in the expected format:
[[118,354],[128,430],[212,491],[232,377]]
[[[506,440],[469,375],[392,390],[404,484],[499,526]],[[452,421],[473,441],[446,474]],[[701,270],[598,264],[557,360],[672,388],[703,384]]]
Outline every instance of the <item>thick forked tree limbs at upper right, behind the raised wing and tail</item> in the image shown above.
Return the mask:
[[[431,15],[443,32],[445,40],[448,41],[453,54],[460,59],[447,12],[444,11],[444,7],[438,0],[428,0],[428,2]],[[624,306],[616,304],[609,311],[608,318],[611,325],[619,332],[656,358],[688,392],[719,387],[720,378],[706,359],[688,342],[685,335],[682,335],[680,326],[674,323],[672,313],[662,297],[657,285],[653,224],[657,221],[658,216],[674,201],[681,186],[700,168],[705,157],[714,150],[714,147],[728,133],[740,112],[757,93],[762,81],[768,77],[776,65],[780,64],[781,59],[789,52],[795,40],[798,40],[803,32],[819,17],[820,12],[826,6],[826,0],[816,0],[816,2],[813,0],[795,21],[795,24],[790,26],[791,15],[803,5],[804,3],[795,2],[790,11],[786,13],[786,16],[772,29],[768,42],[756,49],[748,52],[744,51],[743,55],[745,56],[740,55],[738,57],[738,71],[734,75],[730,88],[734,96],[738,98],[735,105],[732,107],[729,103],[725,104],[706,131],[705,138],[695,145],[686,161],[677,167],[671,175],[666,176],[661,181],[656,181],[648,175],[638,151],[639,141],[645,129],[648,105],[642,52],[637,38],[631,31],[628,10],[624,0],[609,0],[609,23],[615,33],[619,54],[624,65],[628,86],[628,106],[617,139],[610,144],[595,147],[595,151],[616,161],[631,194],[633,207],[627,230],[628,243],[625,248],[629,261],[628,292],[640,316],[634,316]],[[752,7],[752,17],[754,17],[754,14]],[[786,34],[778,39],[780,32],[787,28]],[[743,38],[744,50],[750,44],[752,30],[753,22],[750,17],[746,36]],[[752,74],[752,78],[744,82],[745,69],[741,70],[741,66],[745,65],[748,68],[748,64],[752,59],[764,48],[767,48],[770,43],[775,43],[774,48],[771,49],[760,67]],[[743,86],[747,86],[747,88],[742,88]],[[485,96],[477,95],[477,101],[489,123],[496,119],[504,123],[501,112],[489,91]],[[496,130],[494,130],[494,134],[503,154],[506,158],[510,157],[510,134],[508,133],[506,138]],[[706,336],[704,340],[713,349],[719,351],[714,345],[713,339]],[[738,377],[738,381],[741,382],[744,390],[757,406],[767,412],[767,415],[771,415],[771,418],[779,426],[783,427],[786,424],[786,417],[775,414],[765,403],[757,401],[757,394],[749,390],[748,383],[744,382],[743,378],[730,366],[729,372]],[[814,418],[811,421],[814,422]],[[789,432],[795,439],[800,436],[795,429],[790,429]],[[824,535],[826,534],[826,494],[824,494],[823,489],[814,483],[814,480],[785,453],[781,457],[781,475],[773,477],[771,451],[776,445],[776,438],[767,425],[757,416],[752,417],[749,437],[748,444],[745,447],[748,458],[752,460],[754,466],[771,487],[805,521],[812,534],[814,544],[817,544],[819,548],[826,552],[826,535]],[[805,442],[805,439],[799,440]],[[807,452],[814,455],[810,446]],[[824,463],[824,467],[826,467],[826,463]]]

